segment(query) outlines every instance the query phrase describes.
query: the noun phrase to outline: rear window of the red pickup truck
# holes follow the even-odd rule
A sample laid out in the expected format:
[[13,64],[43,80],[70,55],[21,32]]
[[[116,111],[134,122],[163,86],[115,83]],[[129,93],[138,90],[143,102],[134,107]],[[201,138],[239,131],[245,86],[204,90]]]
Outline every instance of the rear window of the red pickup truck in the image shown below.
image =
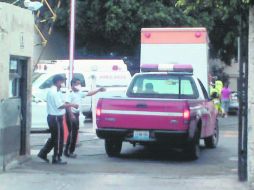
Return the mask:
[[136,76],[127,92],[131,97],[196,99],[198,90],[191,76]]

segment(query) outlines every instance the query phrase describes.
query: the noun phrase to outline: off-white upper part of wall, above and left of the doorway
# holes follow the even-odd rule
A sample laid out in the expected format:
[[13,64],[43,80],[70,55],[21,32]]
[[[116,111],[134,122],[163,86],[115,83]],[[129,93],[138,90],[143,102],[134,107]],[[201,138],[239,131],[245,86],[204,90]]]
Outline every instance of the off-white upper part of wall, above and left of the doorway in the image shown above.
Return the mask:
[[31,58],[34,18],[27,9],[0,2],[0,100],[8,97],[10,55]]

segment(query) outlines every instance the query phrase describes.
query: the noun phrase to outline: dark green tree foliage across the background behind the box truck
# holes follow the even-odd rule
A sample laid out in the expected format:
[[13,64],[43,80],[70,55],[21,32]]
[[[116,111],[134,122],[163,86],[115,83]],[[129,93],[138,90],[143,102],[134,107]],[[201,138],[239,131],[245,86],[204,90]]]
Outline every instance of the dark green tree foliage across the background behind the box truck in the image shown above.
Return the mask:
[[[2,0],[12,3],[14,0]],[[22,1],[23,2],[23,1]],[[68,36],[69,2],[57,11],[56,27]],[[237,54],[242,14],[254,0],[77,0],[76,42],[82,55],[135,55],[142,27],[206,27],[210,53],[230,63]],[[248,23],[243,21],[247,31]]]

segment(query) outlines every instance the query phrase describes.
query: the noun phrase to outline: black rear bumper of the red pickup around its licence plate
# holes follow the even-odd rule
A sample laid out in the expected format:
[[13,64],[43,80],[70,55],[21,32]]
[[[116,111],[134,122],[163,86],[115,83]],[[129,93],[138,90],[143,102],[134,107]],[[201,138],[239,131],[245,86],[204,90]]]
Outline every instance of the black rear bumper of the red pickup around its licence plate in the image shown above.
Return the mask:
[[134,131],[136,131],[136,129],[98,128],[96,130],[96,134],[102,139],[119,139],[122,141],[140,143],[167,143],[172,145],[185,145],[188,141],[190,141],[188,138],[188,131],[148,130],[148,139],[135,138],[133,135]]

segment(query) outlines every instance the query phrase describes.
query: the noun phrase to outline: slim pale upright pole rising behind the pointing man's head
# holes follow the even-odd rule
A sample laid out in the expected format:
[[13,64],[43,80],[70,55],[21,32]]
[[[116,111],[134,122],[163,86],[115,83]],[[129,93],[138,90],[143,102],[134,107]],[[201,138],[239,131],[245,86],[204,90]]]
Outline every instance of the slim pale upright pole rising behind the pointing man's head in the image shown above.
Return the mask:
[[74,65],[74,52],[75,52],[75,15],[76,15],[76,0],[70,0],[70,36],[69,36],[69,83],[68,86],[70,87],[70,80],[73,78],[73,65]]

